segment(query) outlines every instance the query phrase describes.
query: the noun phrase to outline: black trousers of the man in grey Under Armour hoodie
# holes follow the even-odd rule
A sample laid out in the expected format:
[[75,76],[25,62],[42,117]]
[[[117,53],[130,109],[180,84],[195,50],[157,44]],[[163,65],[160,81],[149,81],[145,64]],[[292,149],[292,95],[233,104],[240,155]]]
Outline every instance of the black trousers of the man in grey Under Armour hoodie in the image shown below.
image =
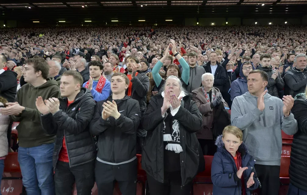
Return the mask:
[[280,166],[255,164],[255,170],[262,185],[260,195],[278,195]]

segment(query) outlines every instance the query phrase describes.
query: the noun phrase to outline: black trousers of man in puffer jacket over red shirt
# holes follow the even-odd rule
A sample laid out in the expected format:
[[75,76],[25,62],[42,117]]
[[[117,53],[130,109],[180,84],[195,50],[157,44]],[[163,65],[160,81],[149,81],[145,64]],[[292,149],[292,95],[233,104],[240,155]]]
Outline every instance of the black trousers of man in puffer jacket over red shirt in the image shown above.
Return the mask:
[[70,168],[68,162],[58,161],[54,170],[56,195],[72,195],[75,182],[77,195],[91,195],[95,183],[94,162]]

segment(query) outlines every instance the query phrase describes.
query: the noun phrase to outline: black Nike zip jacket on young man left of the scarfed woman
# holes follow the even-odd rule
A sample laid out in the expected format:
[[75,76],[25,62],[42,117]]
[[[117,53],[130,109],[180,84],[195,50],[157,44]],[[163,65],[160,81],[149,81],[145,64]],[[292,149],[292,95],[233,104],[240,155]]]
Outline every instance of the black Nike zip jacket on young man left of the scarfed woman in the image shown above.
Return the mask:
[[136,130],[141,122],[140,106],[137,100],[125,96],[115,100],[121,116],[116,120],[114,117],[103,120],[102,105],[106,101],[112,101],[112,96],[97,102],[90,123],[91,133],[99,136],[97,157],[112,163],[128,161],[136,156]]

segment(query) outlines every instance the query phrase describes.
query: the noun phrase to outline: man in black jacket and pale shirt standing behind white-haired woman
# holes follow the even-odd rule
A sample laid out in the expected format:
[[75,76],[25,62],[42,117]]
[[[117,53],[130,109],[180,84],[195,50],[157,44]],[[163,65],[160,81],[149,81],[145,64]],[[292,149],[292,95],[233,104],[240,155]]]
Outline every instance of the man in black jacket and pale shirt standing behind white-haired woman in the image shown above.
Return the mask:
[[214,75],[213,86],[223,91],[223,87],[226,85],[226,73],[225,68],[217,62],[217,53],[211,52],[210,61],[204,66],[206,72],[210,72]]

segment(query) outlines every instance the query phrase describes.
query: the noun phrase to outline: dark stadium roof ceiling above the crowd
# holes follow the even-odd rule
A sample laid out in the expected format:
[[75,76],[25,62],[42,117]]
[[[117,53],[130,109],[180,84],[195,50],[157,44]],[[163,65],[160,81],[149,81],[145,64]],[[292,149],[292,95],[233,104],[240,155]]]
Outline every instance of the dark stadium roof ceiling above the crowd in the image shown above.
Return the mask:
[[[207,0],[207,1],[98,1],[81,0],[10,0],[1,3],[0,20],[40,21],[54,24],[66,21],[80,24],[84,21],[105,24],[118,20],[119,24],[165,22],[178,24],[184,18],[202,17],[302,17],[307,10],[307,0]],[[264,4],[262,6],[262,4]],[[84,6],[84,7],[82,7]]]

